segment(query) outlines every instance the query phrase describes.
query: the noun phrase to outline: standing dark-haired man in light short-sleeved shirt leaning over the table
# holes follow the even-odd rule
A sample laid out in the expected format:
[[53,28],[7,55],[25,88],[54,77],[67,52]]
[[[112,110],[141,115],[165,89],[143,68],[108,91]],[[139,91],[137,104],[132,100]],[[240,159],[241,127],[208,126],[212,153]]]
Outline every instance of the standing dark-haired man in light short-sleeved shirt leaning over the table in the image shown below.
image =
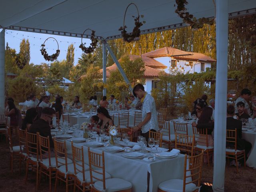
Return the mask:
[[133,131],[142,131],[142,136],[148,141],[149,130],[156,132],[159,130],[157,122],[156,104],[154,98],[145,92],[142,84],[137,84],[133,88],[133,94],[142,102],[142,122],[133,128]]

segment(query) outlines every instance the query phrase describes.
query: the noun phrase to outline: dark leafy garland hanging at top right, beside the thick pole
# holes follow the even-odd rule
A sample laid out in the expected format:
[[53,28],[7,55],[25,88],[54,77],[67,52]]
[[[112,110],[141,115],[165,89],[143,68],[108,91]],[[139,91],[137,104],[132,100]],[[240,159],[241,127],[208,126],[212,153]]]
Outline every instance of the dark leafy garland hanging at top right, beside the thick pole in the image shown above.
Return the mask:
[[[199,18],[198,20],[196,17],[193,17],[192,14],[189,12],[185,12],[187,9],[185,8],[185,5],[188,4],[186,0],[175,0],[177,4],[177,9],[175,12],[180,16],[180,18],[183,19],[183,22],[190,25],[192,29],[200,29],[204,26],[204,24],[212,25],[214,24],[215,19],[209,19],[209,18]],[[174,5],[175,6],[175,5]]]

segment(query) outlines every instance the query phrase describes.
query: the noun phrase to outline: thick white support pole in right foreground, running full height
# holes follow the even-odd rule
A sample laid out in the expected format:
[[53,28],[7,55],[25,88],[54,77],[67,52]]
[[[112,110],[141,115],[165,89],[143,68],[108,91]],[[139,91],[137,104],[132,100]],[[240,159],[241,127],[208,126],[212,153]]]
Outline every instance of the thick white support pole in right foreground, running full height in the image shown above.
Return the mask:
[[228,0],[216,4],[216,102],[214,124],[214,192],[224,192],[226,164],[226,114],[228,77]]

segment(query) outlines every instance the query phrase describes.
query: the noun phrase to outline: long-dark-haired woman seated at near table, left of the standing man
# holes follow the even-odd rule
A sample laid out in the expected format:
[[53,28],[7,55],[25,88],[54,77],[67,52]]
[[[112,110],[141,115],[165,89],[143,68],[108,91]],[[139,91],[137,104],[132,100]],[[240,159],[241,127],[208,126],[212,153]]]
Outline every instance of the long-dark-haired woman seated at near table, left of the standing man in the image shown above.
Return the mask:
[[100,119],[100,122],[98,123],[100,130],[108,130],[108,126],[114,125],[114,122],[111,116],[108,114],[108,110],[106,110],[106,108],[99,107],[97,109],[97,115]]

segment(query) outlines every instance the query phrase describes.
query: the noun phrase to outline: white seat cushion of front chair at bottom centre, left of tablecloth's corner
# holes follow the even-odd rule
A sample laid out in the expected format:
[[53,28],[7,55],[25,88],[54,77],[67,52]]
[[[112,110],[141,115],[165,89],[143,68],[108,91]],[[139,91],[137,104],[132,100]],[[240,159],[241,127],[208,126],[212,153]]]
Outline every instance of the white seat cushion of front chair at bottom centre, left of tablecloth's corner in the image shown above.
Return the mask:
[[[94,183],[94,188],[99,191],[103,191],[103,182],[97,181]],[[106,179],[106,191],[107,192],[118,192],[128,190],[132,188],[132,184],[126,180],[119,178]]]

